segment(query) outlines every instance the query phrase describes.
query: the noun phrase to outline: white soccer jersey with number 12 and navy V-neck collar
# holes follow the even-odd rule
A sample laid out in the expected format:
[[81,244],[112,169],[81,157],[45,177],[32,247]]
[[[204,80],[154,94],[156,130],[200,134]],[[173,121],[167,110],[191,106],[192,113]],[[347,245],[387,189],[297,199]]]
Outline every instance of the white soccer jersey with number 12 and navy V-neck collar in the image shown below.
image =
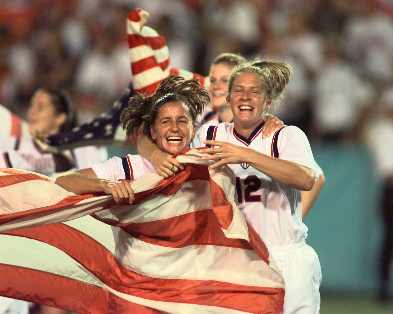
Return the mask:
[[[285,126],[262,138],[260,124],[246,139],[233,124],[204,125],[191,143],[192,148],[205,146],[207,138],[257,150],[269,156],[301,164],[316,172],[309,141],[298,127]],[[266,246],[284,246],[307,237],[307,226],[301,221],[301,191],[272,180],[248,164],[228,164],[236,175],[235,200]],[[316,172],[316,178],[318,173]]]

